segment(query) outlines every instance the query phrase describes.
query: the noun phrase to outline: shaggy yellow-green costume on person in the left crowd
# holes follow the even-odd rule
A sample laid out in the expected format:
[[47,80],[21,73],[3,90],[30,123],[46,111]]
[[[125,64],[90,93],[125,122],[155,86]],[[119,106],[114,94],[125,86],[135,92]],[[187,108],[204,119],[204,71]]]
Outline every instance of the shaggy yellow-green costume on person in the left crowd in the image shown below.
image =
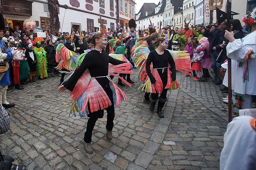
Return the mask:
[[39,78],[47,77],[47,60],[46,51],[43,47],[34,47],[34,53],[36,54],[37,64],[36,64],[36,76]]

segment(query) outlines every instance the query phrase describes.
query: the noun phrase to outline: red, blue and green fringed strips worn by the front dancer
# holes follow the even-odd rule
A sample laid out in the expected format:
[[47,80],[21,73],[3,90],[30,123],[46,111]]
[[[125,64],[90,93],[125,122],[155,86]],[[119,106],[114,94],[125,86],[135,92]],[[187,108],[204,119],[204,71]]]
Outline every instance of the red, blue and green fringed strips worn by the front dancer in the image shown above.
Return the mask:
[[[88,52],[89,51],[79,56],[79,58],[77,59],[77,66],[79,66],[82,63],[82,60],[84,59],[84,57]],[[116,75],[116,73],[132,74],[133,72],[130,71],[130,69],[131,69],[131,64],[128,62],[119,64],[119,65],[109,64],[108,73],[109,75],[114,75],[119,77],[118,75]],[[113,83],[113,81],[109,77],[107,78],[109,79],[109,85],[113,92],[114,105],[115,107],[117,107],[127,97],[122,92],[122,90]],[[123,78],[121,79],[123,80]],[[126,81],[125,83],[131,86],[130,83]],[[100,86],[98,81],[94,77],[91,77],[88,69],[79,78],[79,80],[75,85],[75,88],[73,89],[72,92],[70,92],[70,95],[72,96],[71,98],[72,104],[71,104],[71,109],[69,111],[69,117],[71,114],[74,114],[74,116],[76,116],[75,114],[76,112],[78,112],[79,116],[81,117],[87,116],[87,114],[89,113],[88,103],[90,103],[90,112],[106,109],[111,105],[111,101],[108,95],[106,94],[104,89]],[[65,103],[61,107],[63,108],[66,104],[67,103]]]

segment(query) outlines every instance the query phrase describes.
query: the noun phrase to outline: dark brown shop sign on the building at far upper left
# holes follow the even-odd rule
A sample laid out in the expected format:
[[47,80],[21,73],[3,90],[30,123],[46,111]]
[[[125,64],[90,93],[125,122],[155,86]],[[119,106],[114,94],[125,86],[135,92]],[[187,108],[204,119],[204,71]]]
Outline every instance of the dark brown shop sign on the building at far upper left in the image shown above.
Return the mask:
[[32,16],[32,1],[1,0],[3,13]]

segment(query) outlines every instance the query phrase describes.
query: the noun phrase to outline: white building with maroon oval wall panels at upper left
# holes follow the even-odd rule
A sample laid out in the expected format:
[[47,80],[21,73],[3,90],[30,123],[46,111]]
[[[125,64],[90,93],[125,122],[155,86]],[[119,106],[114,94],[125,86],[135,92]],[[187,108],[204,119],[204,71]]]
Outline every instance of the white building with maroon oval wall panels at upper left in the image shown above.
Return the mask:
[[[2,3],[4,1],[5,0],[2,0]],[[17,3],[17,0],[8,0],[8,3],[10,1],[13,1],[14,4]],[[35,20],[37,22],[37,26],[42,27],[44,31],[49,30],[49,12],[47,0],[22,0],[19,3],[26,5],[27,3],[31,2],[31,7],[28,6],[31,14],[20,14],[20,12],[3,12],[5,18],[8,20],[8,22],[12,22],[14,26],[22,23],[27,18],[31,18]],[[99,0],[96,2],[93,0],[59,0],[59,4],[68,5],[68,9],[58,8],[60,21],[59,31],[62,32],[65,31],[70,33],[71,30],[87,31],[88,29],[91,31],[99,30],[99,13],[102,16],[103,22],[107,29],[115,30],[118,23],[118,1]],[[9,3],[9,5],[12,4]],[[5,8],[5,6],[3,6],[3,8]]]

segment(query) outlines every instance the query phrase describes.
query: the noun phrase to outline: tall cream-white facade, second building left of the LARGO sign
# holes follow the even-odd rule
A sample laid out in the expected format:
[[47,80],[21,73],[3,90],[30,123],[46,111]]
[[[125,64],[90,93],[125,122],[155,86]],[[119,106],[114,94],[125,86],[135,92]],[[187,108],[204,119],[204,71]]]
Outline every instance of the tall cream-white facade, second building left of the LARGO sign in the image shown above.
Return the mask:
[[185,18],[187,23],[191,20],[189,27],[191,25],[194,25],[194,21],[195,21],[194,3],[195,3],[194,0],[183,1],[183,21],[185,20]]

